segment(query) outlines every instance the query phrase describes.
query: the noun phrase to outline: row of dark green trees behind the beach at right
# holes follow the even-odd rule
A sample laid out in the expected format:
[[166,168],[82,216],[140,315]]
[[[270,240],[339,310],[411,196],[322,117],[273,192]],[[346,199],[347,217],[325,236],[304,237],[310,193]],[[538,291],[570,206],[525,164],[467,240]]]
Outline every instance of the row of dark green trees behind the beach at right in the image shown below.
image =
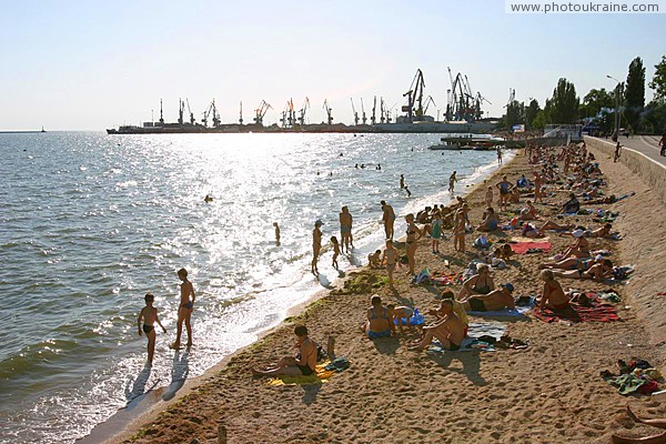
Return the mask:
[[666,132],[666,56],[662,57],[655,69],[647,84],[654,90],[654,97],[647,104],[645,67],[637,57],[629,63],[626,81],[619,82],[614,89],[593,88],[581,100],[575,85],[562,78],[543,108],[536,99],[531,99],[527,105],[517,100],[507,103],[500,127],[511,129],[515,124],[525,124],[526,129],[538,130],[548,123],[583,123],[610,134],[615,129],[615,113],[619,110],[619,125],[626,131],[662,134]]

